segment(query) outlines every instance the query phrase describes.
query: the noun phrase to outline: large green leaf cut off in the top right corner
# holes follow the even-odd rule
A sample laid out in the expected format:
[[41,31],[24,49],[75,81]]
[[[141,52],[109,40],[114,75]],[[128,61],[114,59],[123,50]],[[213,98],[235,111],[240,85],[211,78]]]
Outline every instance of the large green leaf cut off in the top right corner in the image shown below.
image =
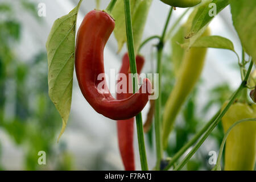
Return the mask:
[[256,64],[256,1],[231,1],[231,13],[234,27],[245,51],[253,57]]

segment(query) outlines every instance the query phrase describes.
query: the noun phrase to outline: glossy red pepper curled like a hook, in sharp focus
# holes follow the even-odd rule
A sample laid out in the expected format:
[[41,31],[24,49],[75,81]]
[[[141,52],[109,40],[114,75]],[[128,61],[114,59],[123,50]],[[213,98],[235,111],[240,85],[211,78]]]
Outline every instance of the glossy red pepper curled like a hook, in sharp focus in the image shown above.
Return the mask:
[[[92,10],[85,15],[77,33],[76,76],[82,94],[94,110],[110,119],[129,119],[147,104],[152,85],[150,80],[144,79],[142,86],[146,85],[146,93],[142,93],[141,87],[129,98],[116,100],[106,86],[106,77],[97,79],[100,73],[105,73],[104,47],[114,27],[114,19],[104,11]],[[104,88],[97,88],[101,82]]]

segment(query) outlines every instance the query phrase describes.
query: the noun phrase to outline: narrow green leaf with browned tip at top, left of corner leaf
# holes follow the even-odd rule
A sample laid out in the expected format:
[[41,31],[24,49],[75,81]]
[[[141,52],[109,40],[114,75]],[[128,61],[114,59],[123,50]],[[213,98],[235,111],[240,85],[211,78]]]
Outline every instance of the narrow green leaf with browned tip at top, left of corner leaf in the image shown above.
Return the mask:
[[203,34],[205,31],[205,28],[208,26],[210,21],[214,18],[214,16],[210,16],[209,12],[212,11],[214,7],[209,6],[210,3],[214,3],[214,7],[216,7],[216,15],[220,13],[226,6],[229,5],[230,0],[212,0],[212,1],[205,1],[200,6],[197,7],[197,13],[193,19],[191,31],[187,34],[186,38],[192,38],[195,36],[195,38],[192,38],[190,40],[189,47],[192,46],[192,44],[195,42],[197,38]]

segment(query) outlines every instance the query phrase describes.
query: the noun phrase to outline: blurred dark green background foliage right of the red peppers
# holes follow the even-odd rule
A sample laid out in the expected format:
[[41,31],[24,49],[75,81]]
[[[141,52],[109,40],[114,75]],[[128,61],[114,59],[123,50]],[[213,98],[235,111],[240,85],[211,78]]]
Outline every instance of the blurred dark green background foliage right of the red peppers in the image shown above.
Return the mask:
[[[166,101],[171,93],[172,88],[175,85],[175,74],[174,65],[171,60],[171,56],[164,55],[162,59],[162,108],[166,104]],[[169,146],[167,148],[167,155],[174,156],[181,147],[186,144],[193,135],[195,135],[206,122],[205,118],[209,115],[209,111],[212,109],[221,108],[222,104],[229,98],[233,90],[227,83],[216,85],[212,89],[208,90],[208,98],[205,98],[207,104],[203,106],[203,109],[199,109],[198,101],[199,98],[199,86],[203,85],[204,81],[201,80],[193,92],[190,94],[189,98],[185,102],[183,108],[180,111],[179,117],[176,120],[174,138],[171,138]],[[154,125],[154,123],[153,123]],[[173,135],[173,134],[172,134]],[[224,137],[221,122],[218,124],[212,134],[210,134],[210,139],[213,139],[217,146],[219,147],[222,138]],[[154,126],[147,133],[148,142],[153,150],[154,143]],[[213,148],[212,150],[218,152],[219,148]],[[187,163],[184,169],[189,171],[196,171],[199,169],[211,170],[211,166],[208,162],[209,151],[200,150],[196,152],[191,160]]]

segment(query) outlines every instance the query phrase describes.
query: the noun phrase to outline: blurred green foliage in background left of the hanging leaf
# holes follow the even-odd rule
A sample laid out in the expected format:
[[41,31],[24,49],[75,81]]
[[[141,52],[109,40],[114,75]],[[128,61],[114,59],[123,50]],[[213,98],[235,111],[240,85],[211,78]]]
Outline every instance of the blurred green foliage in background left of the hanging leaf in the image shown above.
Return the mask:
[[[39,18],[34,3],[19,3],[20,9],[29,10]],[[11,4],[0,4],[0,129],[22,148],[22,169],[70,170],[72,155],[56,142],[61,118],[48,97],[46,52],[39,52],[31,60],[22,60],[15,54],[23,24],[14,12]],[[12,96],[11,100],[7,96]],[[10,108],[10,103],[14,108]],[[1,150],[0,147],[0,157]],[[39,151],[46,152],[49,165],[38,164]],[[59,160],[53,164],[56,156]],[[5,164],[0,164],[0,169],[5,169]]]

